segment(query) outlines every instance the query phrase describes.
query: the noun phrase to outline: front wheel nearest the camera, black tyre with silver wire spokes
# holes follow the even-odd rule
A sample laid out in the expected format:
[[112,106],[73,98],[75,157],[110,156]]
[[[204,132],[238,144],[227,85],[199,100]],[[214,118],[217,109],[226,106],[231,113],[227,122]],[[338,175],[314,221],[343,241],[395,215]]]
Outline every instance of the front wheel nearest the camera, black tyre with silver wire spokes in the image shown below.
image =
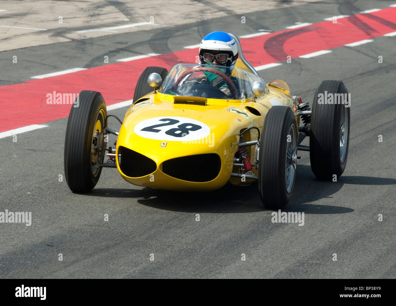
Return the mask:
[[291,198],[297,141],[297,123],[291,108],[272,106],[265,116],[259,151],[259,193],[265,208],[282,209]]

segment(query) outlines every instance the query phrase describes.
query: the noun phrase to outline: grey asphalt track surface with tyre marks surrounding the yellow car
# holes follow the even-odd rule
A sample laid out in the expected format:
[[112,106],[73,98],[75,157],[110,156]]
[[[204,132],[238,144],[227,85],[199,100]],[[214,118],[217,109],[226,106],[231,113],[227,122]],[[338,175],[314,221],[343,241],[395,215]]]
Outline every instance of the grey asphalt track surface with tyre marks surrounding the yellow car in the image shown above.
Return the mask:
[[[0,117],[10,126],[1,132],[30,124],[48,127],[17,134],[17,142],[11,136],[0,138],[0,211],[32,212],[30,227],[0,223],[0,277],[395,278],[396,175],[392,152],[396,149],[396,36],[384,36],[396,31],[395,14],[393,20],[388,19],[387,30],[383,23],[371,24],[373,18],[367,16],[343,21],[359,30],[351,42],[366,39],[360,38],[363,34],[370,36],[371,42],[331,47],[330,53],[317,57],[300,58],[296,53],[291,63],[280,58],[270,62],[281,65],[259,71],[267,82],[285,79],[292,94],[304,101],[312,101],[316,87],[325,79],[344,81],[351,93],[350,143],[343,176],[337,182],[318,181],[310,169],[309,154],[299,153],[293,197],[286,211],[304,212],[304,226],[272,223],[272,211],[261,204],[256,183],[247,187],[226,185],[210,193],[174,193],[130,185],[115,169],[104,169],[92,193],[71,193],[65,179],[58,181],[59,174],[64,175],[67,118],[57,119],[57,114],[65,110],[52,106],[57,120],[23,124],[25,117],[20,110],[29,107],[26,97],[37,93],[21,93],[19,88],[32,76],[75,67],[103,69],[100,66],[105,55],[112,59],[108,64],[112,65],[116,59],[158,53],[166,55],[162,61],[168,60],[171,66],[178,59],[174,54],[199,43],[213,30],[227,30],[237,36],[259,30],[285,31],[297,22],[316,25],[328,17],[356,15],[369,9],[381,9],[371,13],[380,14],[393,4],[396,2],[324,1],[265,13],[258,9],[244,14],[244,25],[235,22],[240,16],[222,17],[1,52],[0,103],[7,111]],[[340,40],[348,36],[337,35]],[[334,39],[324,32],[320,38]],[[319,39],[296,40],[296,49],[303,48],[303,42],[313,48]],[[257,44],[257,49],[263,58],[268,55],[263,43]],[[25,60],[12,66],[9,62],[15,52]],[[249,60],[249,51],[244,54]],[[257,62],[253,66],[267,64],[259,58],[252,61]],[[129,63],[122,69],[129,67],[131,74],[139,75]],[[118,99],[105,95],[103,91],[109,91],[106,84],[99,86],[94,80],[94,88],[83,89],[101,91],[110,104],[132,99],[135,84],[122,77],[116,81],[125,91],[120,95],[114,89]],[[18,89],[15,96],[23,94],[24,100],[5,99],[13,85]],[[10,105],[19,112],[10,112]],[[126,110],[109,113],[122,118]],[[34,112],[31,116],[39,118]],[[109,120],[114,128],[119,127],[116,120]],[[378,141],[379,135],[383,142]],[[303,144],[308,144],[307,140]],[[109,215],[109,221],[103,220],[104,214]],[[200,215],[199,222],[196,214]],[[383,221],[378,220],[379,214]],[[58,260],[59,253],[63,261]],[[246,261],[241,260],[242,253]],[[332,260],[334,253],[337,261]],[[154,254],[154,261],[150,261],[150,254]]]

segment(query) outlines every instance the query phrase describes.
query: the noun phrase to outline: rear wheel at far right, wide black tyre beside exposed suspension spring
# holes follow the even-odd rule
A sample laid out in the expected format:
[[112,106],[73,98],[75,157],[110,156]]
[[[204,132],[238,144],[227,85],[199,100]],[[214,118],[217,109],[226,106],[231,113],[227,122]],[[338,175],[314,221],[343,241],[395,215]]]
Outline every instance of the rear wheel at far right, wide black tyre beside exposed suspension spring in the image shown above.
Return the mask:
[[319,94],[348,94],[342,81],[327,80],[316,89],[311,114],[309,157],[316,178],[341,176],[348,159],[350,100],[346,104],[319,104]]

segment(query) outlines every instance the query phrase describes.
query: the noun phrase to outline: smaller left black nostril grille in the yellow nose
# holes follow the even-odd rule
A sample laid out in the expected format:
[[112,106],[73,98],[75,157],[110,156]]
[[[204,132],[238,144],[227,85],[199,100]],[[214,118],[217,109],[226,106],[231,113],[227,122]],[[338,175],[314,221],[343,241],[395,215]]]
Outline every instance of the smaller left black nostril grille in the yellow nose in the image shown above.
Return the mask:
[[120,146],[118,154],[121,154],[118,163],[122,173],[131,178],[146,176],[157,169],[157,164],[152,159],[126,147]]

